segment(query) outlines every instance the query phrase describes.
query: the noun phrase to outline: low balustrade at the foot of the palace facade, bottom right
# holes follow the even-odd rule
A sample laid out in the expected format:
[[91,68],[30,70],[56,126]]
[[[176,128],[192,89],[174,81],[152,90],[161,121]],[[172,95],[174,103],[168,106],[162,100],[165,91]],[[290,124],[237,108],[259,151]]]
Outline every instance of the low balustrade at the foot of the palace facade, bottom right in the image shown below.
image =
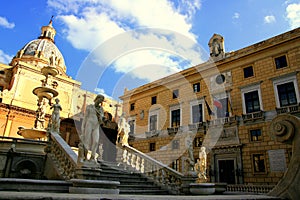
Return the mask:
[[274,185],[227,185],[228,192],[268,193]]

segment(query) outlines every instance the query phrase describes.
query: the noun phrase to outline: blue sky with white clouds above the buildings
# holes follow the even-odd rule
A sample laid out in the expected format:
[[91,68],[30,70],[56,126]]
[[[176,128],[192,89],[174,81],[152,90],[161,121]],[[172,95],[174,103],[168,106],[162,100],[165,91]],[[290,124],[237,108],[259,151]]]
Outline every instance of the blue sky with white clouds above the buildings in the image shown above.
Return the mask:
[[236,51],[300,26],[300,0],[10,0],[0,3],[8,64],[53,16],[67,74],[118,100],[208,59],[213,34]]

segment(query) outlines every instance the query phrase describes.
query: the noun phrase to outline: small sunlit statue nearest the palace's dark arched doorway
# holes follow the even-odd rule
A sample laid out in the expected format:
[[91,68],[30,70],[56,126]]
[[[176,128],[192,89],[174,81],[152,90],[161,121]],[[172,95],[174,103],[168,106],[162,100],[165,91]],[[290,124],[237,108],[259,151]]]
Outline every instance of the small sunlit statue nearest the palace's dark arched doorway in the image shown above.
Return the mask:
[[196,180],[198,183],[203,183],[207,181],[206,177],[206,148],[201,147],[200,152],[199,152],[199,159],[197,159],[197,163],[195,164],[195,171],[198,174],[198,179]]

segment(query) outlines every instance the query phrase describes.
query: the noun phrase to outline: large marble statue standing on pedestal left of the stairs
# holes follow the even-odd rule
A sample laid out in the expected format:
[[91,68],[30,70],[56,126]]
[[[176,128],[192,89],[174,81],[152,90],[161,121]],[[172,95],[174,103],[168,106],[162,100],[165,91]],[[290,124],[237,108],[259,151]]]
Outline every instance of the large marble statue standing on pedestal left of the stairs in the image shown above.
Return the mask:
[[[84,113],[81,125],[81,144],[80,144],[80,160],[87,160],[87,150],[91,151],[90,161],[95,161],[96,150],[99,147],[99,129],[103,124],[104,110],[102,102],[104,96],[99,94],[94,100],[94,104],[88,105]],[[84,156],[83,158],[81,156]]]

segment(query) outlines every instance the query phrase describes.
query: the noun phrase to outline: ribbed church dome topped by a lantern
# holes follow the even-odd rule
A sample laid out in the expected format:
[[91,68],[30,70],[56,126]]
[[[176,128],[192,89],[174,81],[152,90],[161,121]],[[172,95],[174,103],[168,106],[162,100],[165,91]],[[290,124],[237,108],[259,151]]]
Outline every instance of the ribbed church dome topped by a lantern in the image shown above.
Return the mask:
[[52,27],[52,20],[47,26],[41,29],[38,39],[28,42],[12,60],[20,60],[37,67],[53,66],[60,74],[66,74],[65,60],[54,42],[55,29]]

